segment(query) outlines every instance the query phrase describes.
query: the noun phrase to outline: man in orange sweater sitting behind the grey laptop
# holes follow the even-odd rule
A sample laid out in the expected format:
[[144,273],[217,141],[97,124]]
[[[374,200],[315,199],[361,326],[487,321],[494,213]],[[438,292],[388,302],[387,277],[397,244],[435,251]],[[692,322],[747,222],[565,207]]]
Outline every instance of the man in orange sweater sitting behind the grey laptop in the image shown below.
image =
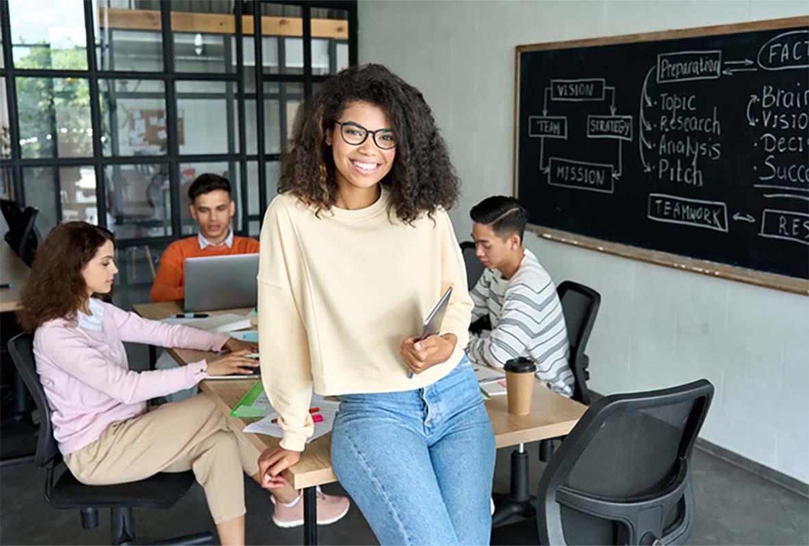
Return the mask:
[[231,221],[236,204],[231,199],[231,183],[222,176],[205,173],[188,188],[188,209],[199,226],[196,237],[168,245],[152,285],[151,300],[168,302],[185,298],[185,259],[226,254],[256,254],[258,241],[233,235]]

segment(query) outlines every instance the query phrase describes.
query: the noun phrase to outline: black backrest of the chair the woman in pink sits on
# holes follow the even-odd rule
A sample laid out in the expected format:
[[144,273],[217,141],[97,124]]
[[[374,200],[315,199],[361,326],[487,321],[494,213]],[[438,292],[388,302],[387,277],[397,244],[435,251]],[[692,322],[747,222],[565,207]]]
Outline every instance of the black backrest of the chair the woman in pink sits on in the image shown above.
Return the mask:
[[21,333],[8,341],[8,352],[11,353],[11,360],[23,378],[28,392],[31,393],[36,408],[39,410],[40,432],[36,440],[36,454],[34,462],[40,467],[53,467],[57,463],[59,448],[56,439],[53,438],[53,424],[51,423],[50,407],[48,399],[40,383],[40,376],[36,373],[36,360],[34,359],[34,339],[27,333]]

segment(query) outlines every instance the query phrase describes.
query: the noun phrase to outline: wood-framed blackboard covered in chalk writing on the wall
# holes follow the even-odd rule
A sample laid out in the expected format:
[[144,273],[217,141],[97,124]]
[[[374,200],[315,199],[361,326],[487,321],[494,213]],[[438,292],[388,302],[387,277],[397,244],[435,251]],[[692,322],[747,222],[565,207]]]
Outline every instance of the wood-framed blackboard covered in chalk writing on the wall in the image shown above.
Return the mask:
[[809,293],[809,17],[520,45],[532,229]]

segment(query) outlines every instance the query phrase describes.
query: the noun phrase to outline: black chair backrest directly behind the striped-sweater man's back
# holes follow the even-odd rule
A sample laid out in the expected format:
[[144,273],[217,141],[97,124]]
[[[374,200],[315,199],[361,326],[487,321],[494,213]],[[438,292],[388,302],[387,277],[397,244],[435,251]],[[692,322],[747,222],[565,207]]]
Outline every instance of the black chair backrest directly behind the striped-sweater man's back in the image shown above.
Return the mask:
[[587,366],[590,365],[590,359],[584,349],[595,324],[595,315],[599,312],[601,294],[574,281],[562,282],[557,286],[557,294],[565,314],[567,337],[570,341],[570,369],[576,379],[573,399],[582,404],[590,404],[590,392],[587,390],[587,379],[590,379]]

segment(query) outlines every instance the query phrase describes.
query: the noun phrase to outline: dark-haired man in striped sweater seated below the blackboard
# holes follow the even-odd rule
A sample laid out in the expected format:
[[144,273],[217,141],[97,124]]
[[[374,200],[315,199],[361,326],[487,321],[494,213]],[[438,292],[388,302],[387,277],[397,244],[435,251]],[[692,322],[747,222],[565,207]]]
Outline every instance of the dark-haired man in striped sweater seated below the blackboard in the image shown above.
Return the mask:
[[550,275],[523,248],[527,211],[514,197],[494,196],[472,207],[470,215],[476,255],[486,268],[469,292],[472,322],[488,315],[492,329],[470,333],[469,359],[502,368],[511,358],[531,358],[547,387],[571,396],[565,315]]

